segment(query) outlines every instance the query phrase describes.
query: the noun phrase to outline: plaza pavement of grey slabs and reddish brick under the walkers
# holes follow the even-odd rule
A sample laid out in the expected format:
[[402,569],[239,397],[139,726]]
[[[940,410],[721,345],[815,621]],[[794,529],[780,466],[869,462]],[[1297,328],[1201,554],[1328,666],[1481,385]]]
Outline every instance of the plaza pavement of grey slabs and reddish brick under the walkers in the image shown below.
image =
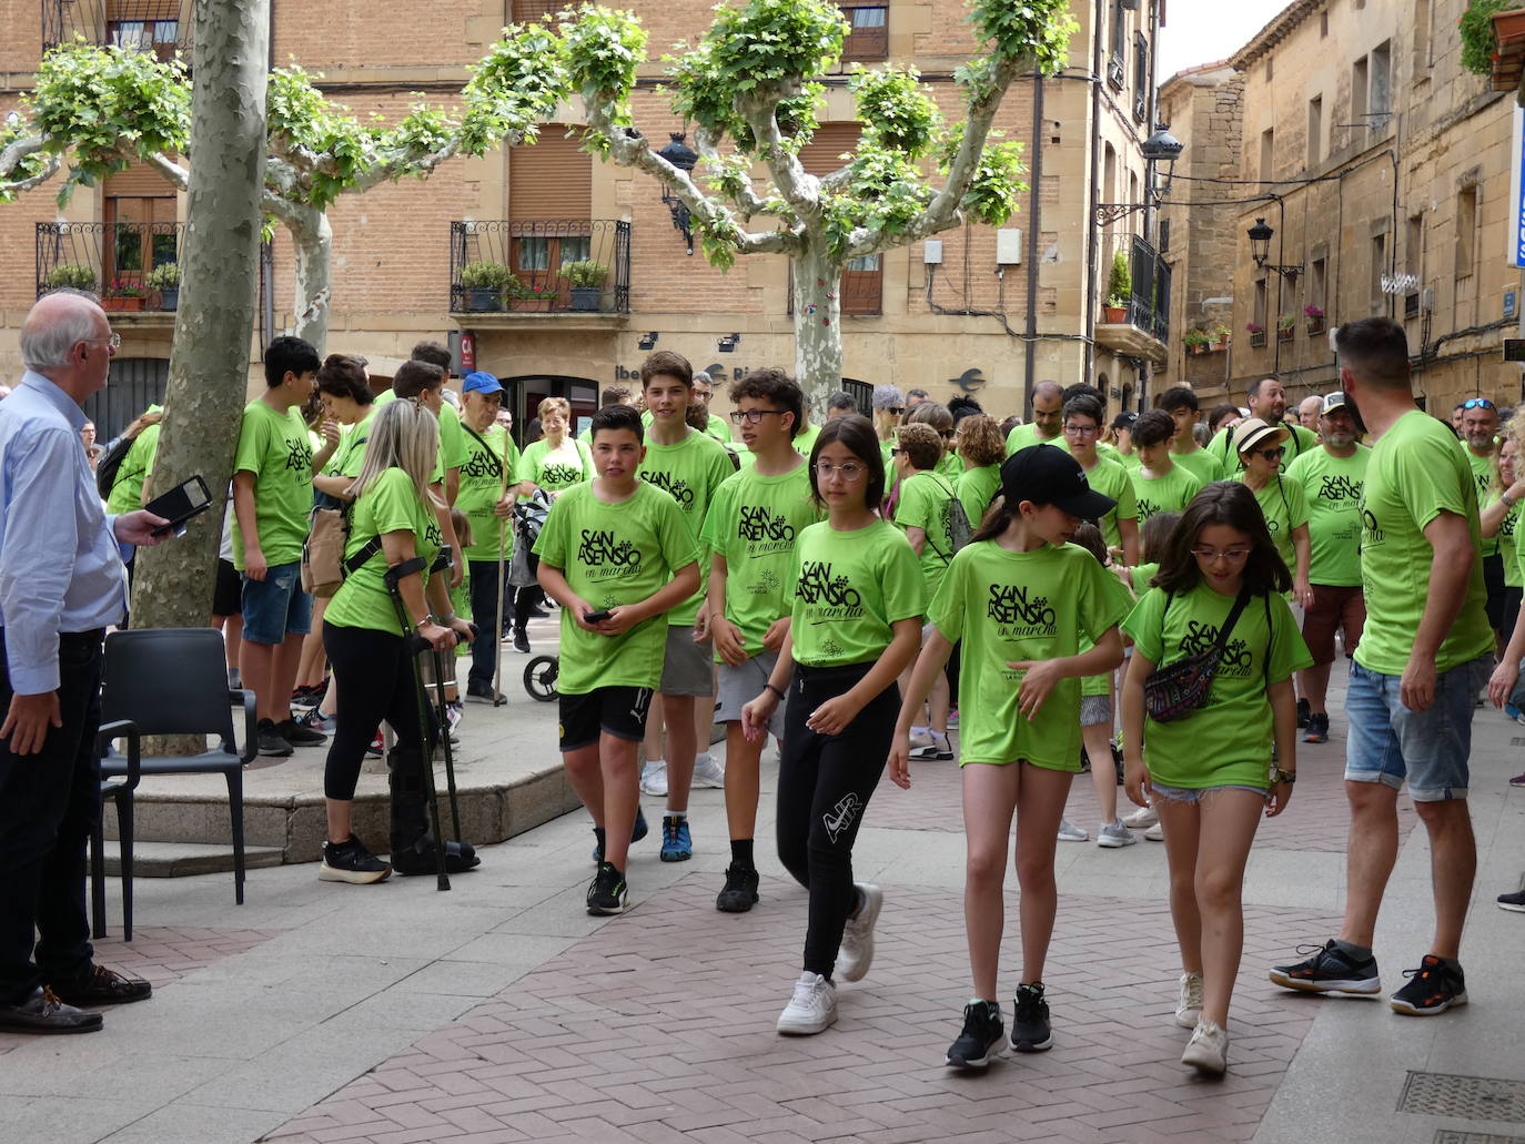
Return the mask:
[[[583,813],[490,847],[439,894],[432,879],[319,883],[311,865],[145,880],[139,938],[99,959],[149,976],[152,1001],[104,1033],[0,1037],[0,1123],[24,1141],[1469,1141],[1525,1136],[1525,917],[1494,908],[1525,868],[1525,728],[1476,712],[1479,844],[1464,966],[1472,1004],[1409,1019],[1372,1001],[1292,995],[1272,961],[1322,943],[1344,894],[1344,717],[1299,750],[1287,815],[1261,828],[1246,885],[1246,953],[1231,1071],[1177,1059],[1176,967],[1156,844],[1060,844],[1060,912],[1045,973],[1055,1046],[953,1075],[942,1052],[968,998],[958,772],[881,784],[857,847],[884,886],[874,970],[819,1037],[773,1020],[799,970],[805,894],[773,857],[776,763],[764,758],[762,901],[714,909],[727,862],[721,795],[695,792],[695,857],[628,871],[633,912],[590,918]],[[485,708],[483,708],[485,709]],[[552,757],[554,726],[515,744]],[[647,799],[647,815],[660,813]],[[1090,784],[1068,816],[1095,828]],[[1405,840],[1377,940],[1386,991],[1426,950],[1427,844]],[[1008,879],[1002,995],[1019,958]],[[113,908],[113,918],[117,917]],[[1010,1017],[1010,1007],[1008,1007]],[[1412,1072],[1487,1081],[1411,1078]],[[1400,1101],[1420,1110],[1400,1110]],[[1437,1115],[1447,1109],[1461,1115]],[[1472,1135],[1469,1135],[1472,1133]],[[1481,1133],[1481,1135],[1479,1135]]]

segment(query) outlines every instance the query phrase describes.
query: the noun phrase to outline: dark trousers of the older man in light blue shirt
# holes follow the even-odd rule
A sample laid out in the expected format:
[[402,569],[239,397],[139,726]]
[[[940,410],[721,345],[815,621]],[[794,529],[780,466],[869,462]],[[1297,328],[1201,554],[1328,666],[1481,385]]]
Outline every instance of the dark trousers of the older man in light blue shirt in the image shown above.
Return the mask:
[[[85,850],[101,813],[102,635],[58,638],[63,726],[49,728],[41,754],[12,755],[0,741],[0,1005],[92,969]],[[8,664],[0,631],[0,711],[11,708]]]

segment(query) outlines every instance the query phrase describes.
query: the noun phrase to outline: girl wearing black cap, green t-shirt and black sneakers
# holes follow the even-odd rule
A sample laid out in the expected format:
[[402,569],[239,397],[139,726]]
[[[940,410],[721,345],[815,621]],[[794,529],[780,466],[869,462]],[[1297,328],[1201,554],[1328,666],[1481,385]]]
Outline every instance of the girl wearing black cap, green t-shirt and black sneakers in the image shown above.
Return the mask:
[[[1034,445],[1006,459],[1000,482],[1000,508],[953,557],[932,601],[933,631],[910,677],[889,755],[891,779],[909,787],[912,717],[962,639],[964,923],[974,998],[947,1054],[956,1068],[984,1068],[1005,1033],[996,970],[1013,816],[1022,984],[1011,1048],[1042,1052],[1051,1045],[1043,961],[1057,908],[1057,831],[1080,770],[1080,680],[1122,662],[1118,622],[1127,613],[1106,583],[1106,569],[1068,543],[1084,520],[1116,505],[1092,491],[1080,462],[1054,445]],[[1095,644],[1084,653],[1083,635]]]

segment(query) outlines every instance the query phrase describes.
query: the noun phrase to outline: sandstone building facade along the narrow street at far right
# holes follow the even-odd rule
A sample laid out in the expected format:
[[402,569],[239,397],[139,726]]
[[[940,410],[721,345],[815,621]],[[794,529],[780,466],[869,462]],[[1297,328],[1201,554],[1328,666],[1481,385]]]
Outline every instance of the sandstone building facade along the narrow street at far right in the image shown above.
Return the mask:
[[[1429,409],[1520,398],[1519,368],[1501,352],[1519,326],[1522,287],[1507,226],[1513,104],[1461,69],[1464,9],[1296,0],[1228,61],[1232,78],[1211,73],[1215,90],[1241,87],[1241,201],[1191,207],[1180,224],[1218,233],[1232,220],[1232,290],[1217,288],[1217,261],[1194,264],[1183,293],[1234,297],[1234,340],[1215,372],[1235,400],[1272,372],[1289,400],[1336,387],[1327,329],[1376,314],[1408,331]],[[1206,78],[1168,81],[1165,102]],[[1247,238],[1258,220],[1273,230],[1267,267]]]

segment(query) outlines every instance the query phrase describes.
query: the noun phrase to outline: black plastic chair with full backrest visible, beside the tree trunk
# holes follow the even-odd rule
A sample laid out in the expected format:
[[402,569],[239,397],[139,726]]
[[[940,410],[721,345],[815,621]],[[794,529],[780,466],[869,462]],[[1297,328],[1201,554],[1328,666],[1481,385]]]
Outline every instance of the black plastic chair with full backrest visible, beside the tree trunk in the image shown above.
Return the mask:
[[[232,705],[244,708],[238,752]],[[233,898],[244,905],[244,766],[259,741],[253,691],[230,691],[223,636],[209,627],[113,631],[105,638],[104,720],[130,720],[140,735],[207,735],[218,747],[200,755],[143,758],[143,775],[223,775],[233,827]],[[125,776],[128,760],[111,752],[101,775]]]

